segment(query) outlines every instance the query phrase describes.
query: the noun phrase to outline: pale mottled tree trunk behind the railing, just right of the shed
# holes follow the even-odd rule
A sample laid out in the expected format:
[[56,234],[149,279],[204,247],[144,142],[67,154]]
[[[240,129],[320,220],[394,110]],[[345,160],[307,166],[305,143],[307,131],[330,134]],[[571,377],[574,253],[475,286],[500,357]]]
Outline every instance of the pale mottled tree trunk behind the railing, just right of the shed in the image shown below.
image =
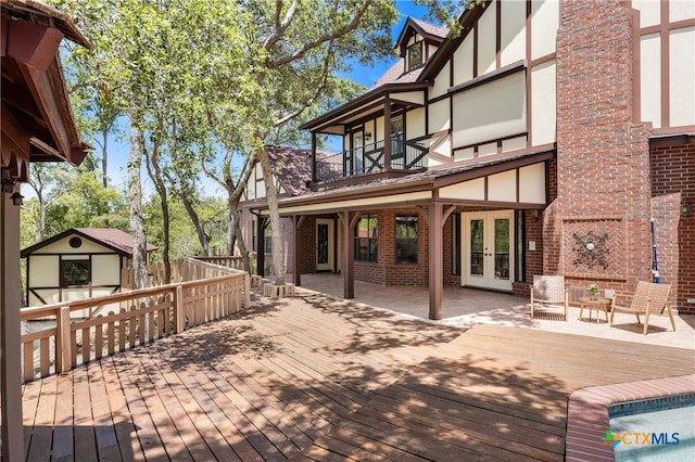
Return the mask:
[[130,156],[128,158],[128,203],[130,209],[130,232],[132,233],[132,270],[135,273],[134,288],[144,288],[149,285],[147,268],[147,236],[144,234],[142,189],[140,185],[142,144],[142,132],[135,123],[131,123]]

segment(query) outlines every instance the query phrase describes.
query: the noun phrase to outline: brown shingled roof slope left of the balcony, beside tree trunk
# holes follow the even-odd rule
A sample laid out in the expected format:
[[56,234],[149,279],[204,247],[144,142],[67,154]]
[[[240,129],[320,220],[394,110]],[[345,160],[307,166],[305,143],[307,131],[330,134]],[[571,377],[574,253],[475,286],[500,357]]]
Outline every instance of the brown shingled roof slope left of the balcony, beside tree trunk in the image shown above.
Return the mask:
[[300,195],[309,191],[312,181],[312,150],[286,146],[266,146],[278,181],[290,195]]

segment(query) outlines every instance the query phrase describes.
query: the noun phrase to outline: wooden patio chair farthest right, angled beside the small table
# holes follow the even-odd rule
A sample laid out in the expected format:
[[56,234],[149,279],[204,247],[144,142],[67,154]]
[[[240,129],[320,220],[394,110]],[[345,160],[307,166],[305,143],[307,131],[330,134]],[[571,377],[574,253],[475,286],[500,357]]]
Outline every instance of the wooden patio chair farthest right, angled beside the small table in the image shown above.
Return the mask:
[[610,304],[610,323],[612,326],[612,317],[617,312],[634,313],[640,322],[640,315],[644,315],[643,334],[647,334],[649,328],[649,315],[662,315],[664,310],[668,311],[671,319],[671,326],[675,332],[675,321],[673,320],[673,311],[671,311],[671,303],[669,295],[671,294],[671,284],[655,284],[652,282],[637,282],[634,294],[616,294]]

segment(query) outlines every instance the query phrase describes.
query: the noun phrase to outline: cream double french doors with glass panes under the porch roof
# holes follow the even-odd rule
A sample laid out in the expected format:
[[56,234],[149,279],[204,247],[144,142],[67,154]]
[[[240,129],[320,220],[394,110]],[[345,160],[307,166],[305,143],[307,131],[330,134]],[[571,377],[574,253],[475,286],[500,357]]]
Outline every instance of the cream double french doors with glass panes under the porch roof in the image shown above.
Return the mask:
[[462,214],[464,285],[511,291],[514,211]]

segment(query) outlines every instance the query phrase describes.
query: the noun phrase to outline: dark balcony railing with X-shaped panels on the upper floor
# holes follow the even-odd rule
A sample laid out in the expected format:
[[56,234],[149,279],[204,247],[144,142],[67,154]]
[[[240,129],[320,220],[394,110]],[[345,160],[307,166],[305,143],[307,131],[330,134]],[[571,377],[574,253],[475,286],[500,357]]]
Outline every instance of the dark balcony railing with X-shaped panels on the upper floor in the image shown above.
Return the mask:
[[[343,151],[316,161],[314,181],[330,181],[386,169],[383,141]],[[426,147],[410,142],[391,141],[392,170],[420,170],[426,167]]]

